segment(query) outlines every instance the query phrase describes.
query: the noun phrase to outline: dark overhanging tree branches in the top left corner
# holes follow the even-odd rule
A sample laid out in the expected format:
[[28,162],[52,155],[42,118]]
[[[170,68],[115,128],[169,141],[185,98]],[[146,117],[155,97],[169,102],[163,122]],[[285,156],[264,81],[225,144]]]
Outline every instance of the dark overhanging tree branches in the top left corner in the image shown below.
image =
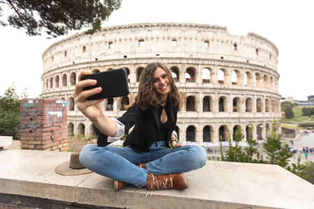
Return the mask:
[[[0,0],[0,25],[26,29],[30,36],[48,38],[65,35],[69,30],[91,28],[87,33],[101,29],[103,20],[119,9],[122,0]],[[7,22],[2,20],[2,6],[7,5],[12,13]]]

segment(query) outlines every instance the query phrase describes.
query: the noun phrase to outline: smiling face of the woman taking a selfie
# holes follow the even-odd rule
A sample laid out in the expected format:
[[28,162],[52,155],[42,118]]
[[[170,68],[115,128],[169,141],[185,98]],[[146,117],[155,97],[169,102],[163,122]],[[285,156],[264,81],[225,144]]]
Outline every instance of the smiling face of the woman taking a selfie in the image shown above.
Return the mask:
[[153,74],[153,88],[161,96],[163,100],[167,99],[167,95],[170,92],[169,77],[164,69],[158,67]]

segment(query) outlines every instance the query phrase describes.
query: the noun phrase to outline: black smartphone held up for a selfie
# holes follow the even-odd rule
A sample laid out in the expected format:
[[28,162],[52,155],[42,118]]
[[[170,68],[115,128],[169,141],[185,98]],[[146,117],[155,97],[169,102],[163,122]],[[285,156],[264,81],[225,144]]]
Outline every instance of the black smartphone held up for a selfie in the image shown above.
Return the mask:
[[113,98],[129,94],[128,77],[124,68],[83,75],[81,77],[81,80],[86,79],[97,80],[97,84],[95,86],[84,87],[83,91],[97,87],[102,88],[101,93],[94,94],[86,98],[86,100]]

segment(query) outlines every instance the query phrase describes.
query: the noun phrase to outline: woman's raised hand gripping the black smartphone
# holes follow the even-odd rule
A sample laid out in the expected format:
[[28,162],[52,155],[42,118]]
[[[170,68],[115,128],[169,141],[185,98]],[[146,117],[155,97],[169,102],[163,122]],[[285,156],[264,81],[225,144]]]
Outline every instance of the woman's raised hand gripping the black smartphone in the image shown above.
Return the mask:
[[86,117],[93,121],[99,118],[100,115],[102,114],[103,112],[102,101],[104,101],[104,99],[86,100],[87,97],[94,94],[98,94],[102,91],[101,87],[83,91],[84,87],[95,86],[97,83],[97,80],[92,79],[81,80],[82,75],[89,74],[91,74],[91,72],[82,71],[80,75],[78,75],[78,82],[75,85],[73,97],[78,110],[80,110]]

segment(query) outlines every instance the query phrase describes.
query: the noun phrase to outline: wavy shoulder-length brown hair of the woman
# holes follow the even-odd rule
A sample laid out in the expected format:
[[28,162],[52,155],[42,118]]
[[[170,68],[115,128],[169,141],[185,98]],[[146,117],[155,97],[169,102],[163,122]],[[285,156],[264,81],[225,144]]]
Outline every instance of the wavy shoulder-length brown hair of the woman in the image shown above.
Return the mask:
[[168,75],[170,81],[170,92],[167,96],[167,101],[170,105],[175,106],[179,104],[179,91],[175,86],[175,81],[171,75],[168,67],[161,62],[151,62],[148,64],[141,74],[139,93],[136,96],[136,105],[140,110],[146,110],[149,107],[158,107],[163,103],[159,94],[153,88],[153,74],[157,68],[162,68]]

